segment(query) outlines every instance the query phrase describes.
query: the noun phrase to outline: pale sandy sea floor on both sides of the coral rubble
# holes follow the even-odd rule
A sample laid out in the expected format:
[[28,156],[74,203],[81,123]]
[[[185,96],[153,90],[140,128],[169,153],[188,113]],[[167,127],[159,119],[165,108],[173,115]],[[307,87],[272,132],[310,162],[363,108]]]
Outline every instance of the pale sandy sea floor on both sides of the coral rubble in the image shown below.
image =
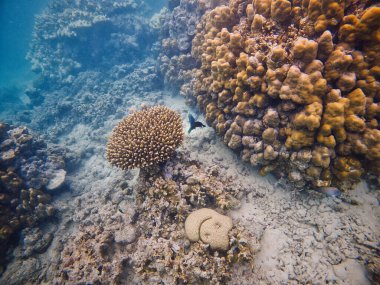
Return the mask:
[[[187,129],[187,114],[192,110],[184,99],[165,91],[160,95],[149,101],[129,98],[133,102],[129,107],[163,103],[182,114]],[[139,171],[118,170],[105,158],[107,136],[118,120],[114,114],[96,127],[80,123],[55,137],[77,164],[67,175],[69,190],[55,196],[59,218],[41,229],[23,231],[1,284],[59,284],[64,274],[60,265],[67,261],[62,252],[67,248],[75,252],[76,238],[89,232],[96,235],[97,227],[117,232],[124,244],[134,242],[136,229],[131,220]],[[377,194],[364,182],[343,198],[295,192],[272,176],[259,176],[209,127],[186,134],[178,152],[199,161],[204,168],[218,167],[221,175],[245,189],[239,197],[240,207],[228,215],[249,233],[255,266],[233,268],[234,278],[228,284],[370,284],[368,270],[379,265],[380,208]],[[113,248],[113,258],[115,262],[127,258],[122,247]],[[125,279],[120,284],[144,284],[136,281],[130,268],[122,270]]]

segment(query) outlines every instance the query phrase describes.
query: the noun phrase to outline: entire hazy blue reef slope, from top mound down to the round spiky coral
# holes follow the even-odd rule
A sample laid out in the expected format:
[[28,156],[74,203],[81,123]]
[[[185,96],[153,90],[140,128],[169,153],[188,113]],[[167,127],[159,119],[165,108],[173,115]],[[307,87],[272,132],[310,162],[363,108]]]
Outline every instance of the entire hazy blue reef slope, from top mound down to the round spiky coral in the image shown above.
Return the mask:
[[28,52],[38,75],[25,92],[31,109],[14,110],[7,120],[58,143],[75,125],[120,119],[136,100],[157,103],[153,13],[140,0],[52,1],[36,17]]

